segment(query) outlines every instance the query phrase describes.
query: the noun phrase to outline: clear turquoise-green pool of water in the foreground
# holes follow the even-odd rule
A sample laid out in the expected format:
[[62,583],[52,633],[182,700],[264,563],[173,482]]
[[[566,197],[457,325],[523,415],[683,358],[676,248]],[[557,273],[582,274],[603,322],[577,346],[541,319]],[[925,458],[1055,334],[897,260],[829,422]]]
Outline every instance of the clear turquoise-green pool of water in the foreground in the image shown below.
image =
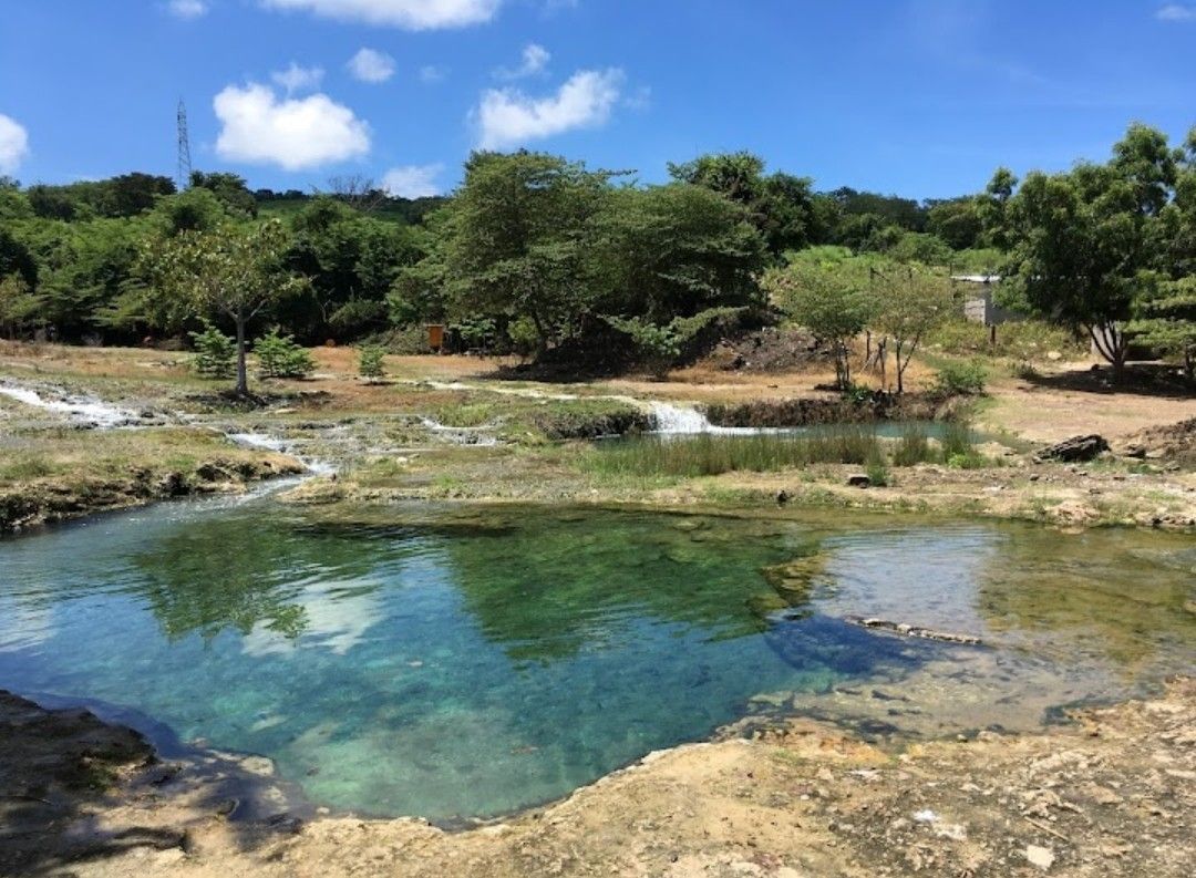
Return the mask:
[[[444,821],[566,794],[708,736],[761,693],[879,727],[868,706],[887,701],[849,694],[881,687],[932,709],[886,707],[879,725],[938,733],[1037,724],[1194,664],[1182,537],[370,514],[187,502],[0,541],[0,687],[267,755],[334,809]],[[779,591],[776,566],[794,561]],[[877,634],[852,614],[991,646]]]

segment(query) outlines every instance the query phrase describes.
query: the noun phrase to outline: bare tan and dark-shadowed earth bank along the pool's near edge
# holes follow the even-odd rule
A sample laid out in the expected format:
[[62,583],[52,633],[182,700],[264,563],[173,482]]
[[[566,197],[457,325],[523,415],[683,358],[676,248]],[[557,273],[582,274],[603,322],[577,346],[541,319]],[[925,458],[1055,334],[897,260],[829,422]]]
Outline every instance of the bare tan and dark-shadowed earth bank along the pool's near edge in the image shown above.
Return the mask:
[[[1189,874],[1196,681],[1176,679],[1152,700],[1075,711],[1069,720],[1042,733],[981,732],[896,755],[830,725],[793,720],[750,739],[653,754],[548,807],[445,831],[419,819],[279,813],[230,821],[236,803],[187,766],[153,761],[138,736],[86,713],[48,712],[6,696],[0,804],[10,839],[0,870]],[[268,776],[270,767],[257,770]],[[97,775],[99,788],[89,786]],[[17,835],[19,846],[12,843]]]

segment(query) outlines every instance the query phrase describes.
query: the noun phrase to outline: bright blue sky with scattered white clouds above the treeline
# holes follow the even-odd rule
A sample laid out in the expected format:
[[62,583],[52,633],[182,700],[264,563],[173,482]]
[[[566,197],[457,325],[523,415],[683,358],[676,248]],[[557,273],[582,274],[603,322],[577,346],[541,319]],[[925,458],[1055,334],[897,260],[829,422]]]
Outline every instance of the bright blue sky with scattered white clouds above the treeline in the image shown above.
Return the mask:
[[[365,51],[362,51],[365,50]],[[451,189],[477,146],[635,169],[746,148],[915,197],[1196,124],[1196,0],[4,0],[0,172],[193,164]]]

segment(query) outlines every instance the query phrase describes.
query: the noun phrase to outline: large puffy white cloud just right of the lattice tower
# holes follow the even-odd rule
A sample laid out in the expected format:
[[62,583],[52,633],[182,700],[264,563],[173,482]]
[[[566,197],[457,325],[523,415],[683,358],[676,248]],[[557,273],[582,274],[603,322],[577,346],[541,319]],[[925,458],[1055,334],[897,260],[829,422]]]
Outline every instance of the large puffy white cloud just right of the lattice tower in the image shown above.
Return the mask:
[[370,152],[370,126],[327,94],[280,100],[274,90],[230,85],[212,102],[220,120],[216,153],[225,159],[318,167]]

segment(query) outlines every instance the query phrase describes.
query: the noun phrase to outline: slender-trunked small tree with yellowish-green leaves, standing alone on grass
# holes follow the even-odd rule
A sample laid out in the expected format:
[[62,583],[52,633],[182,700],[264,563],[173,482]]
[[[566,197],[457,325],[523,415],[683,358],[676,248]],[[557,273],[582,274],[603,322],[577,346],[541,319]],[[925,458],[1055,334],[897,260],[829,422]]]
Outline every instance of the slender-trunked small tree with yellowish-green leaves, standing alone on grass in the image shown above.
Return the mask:
[[144,264],[154,292],[181,310],[224,316],[237,328],[237,392],[249,392],[245,328],[268,306],[306,287],[287,273],[282,260],[287,236],[277,220],[252,228],[232,224],[212,231],[154,238]]

